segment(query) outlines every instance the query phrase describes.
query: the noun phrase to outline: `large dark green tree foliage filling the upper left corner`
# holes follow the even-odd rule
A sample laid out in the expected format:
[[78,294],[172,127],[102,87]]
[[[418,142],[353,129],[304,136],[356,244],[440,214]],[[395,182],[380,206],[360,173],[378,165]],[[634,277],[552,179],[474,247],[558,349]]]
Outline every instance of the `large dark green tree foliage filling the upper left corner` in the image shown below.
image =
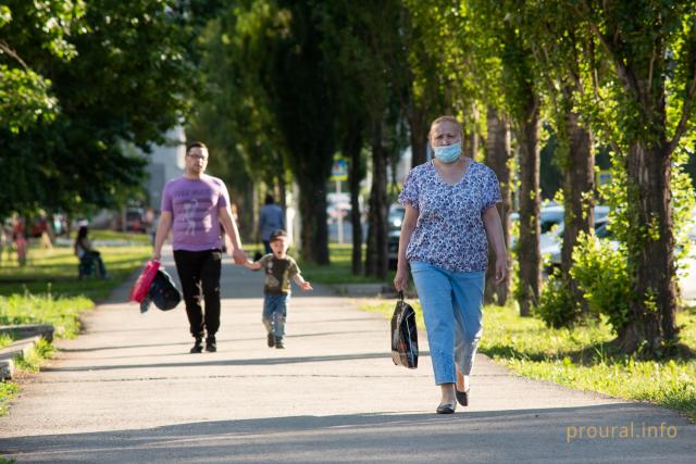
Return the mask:
[[[7,102],[16,122],[0,127],[0,145],[12,153],[0,158],[11,179],[0,191],[0,216],[114,206],[140,188],[146,164],[125,153],[124,142],[147,149],[163,141],[200,89],[190,48],[199,18],[177,0],[13,0],[9,7],[3,37],[37,78],[33,86],[3,79],[0,91],[17,98],[46,91],[38,101],[26,99],[25,117],[13,99]],[[16,60],[12,66],[21,68]],[[52,118],[39,117],[49,110]]]

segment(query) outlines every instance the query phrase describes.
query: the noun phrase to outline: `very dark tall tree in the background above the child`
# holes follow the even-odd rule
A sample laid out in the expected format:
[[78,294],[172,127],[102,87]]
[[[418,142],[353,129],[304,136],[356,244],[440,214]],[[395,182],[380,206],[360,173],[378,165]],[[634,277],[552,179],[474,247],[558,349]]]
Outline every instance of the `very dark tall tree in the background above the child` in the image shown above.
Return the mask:
[[310,0],[283,0],[278,5],[290,20],[286,35],[270,50],[271,103],[300,187],[302,254],[328,264],[325,186],[336,142],[323,35]]

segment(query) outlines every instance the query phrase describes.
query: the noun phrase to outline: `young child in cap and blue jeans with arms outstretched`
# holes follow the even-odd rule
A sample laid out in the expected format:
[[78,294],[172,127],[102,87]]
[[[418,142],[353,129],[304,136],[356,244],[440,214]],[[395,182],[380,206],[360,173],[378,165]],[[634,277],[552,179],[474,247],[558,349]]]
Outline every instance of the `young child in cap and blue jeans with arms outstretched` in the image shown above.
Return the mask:
[[287,255],[287,234],[283,229],[277,229],[271,234],[271,250],[273,252],[257,262],[248,261],[245,264],[247,268],[252,271],[261,268],[265,271],[262,322],[269,333],[269,348],[285,348],[283,336],[285,335],[287,304],[290,299],[290,278],[302,290],[312,289],[310,283],[302,278],[295,260]]

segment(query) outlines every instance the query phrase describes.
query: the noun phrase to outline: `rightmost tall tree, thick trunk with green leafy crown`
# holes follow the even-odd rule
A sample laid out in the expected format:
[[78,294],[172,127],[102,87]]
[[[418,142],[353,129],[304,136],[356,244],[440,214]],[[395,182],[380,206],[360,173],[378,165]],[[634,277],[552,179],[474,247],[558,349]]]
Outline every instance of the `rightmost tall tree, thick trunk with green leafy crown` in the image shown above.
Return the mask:
[[[693,125],[696,97],[696,2],[583,0],[569,2],[594,35],[587,50],[596,71],[605,63],[612,86],[595,88],[609,122],[604,128],[625,163],[625,226],[633,294],[619,329],[624,351],[657,349],[678,336],[674,280],[672,162]],[[602,61],[604,57],[606,61]],[[597,110],[599,109],[599,110]]]

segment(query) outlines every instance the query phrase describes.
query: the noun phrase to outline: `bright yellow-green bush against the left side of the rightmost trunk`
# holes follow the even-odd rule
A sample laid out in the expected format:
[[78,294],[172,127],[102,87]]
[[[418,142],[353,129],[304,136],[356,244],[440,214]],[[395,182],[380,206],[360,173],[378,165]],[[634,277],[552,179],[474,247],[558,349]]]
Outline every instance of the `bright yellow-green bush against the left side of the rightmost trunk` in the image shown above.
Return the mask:
[[629,322],[634,298],[625,251],[613,250],[594,234],[581,234],[573,250],[573,262],[570,273],[584,292],[588,310],[606,316],[612,330],[621,334]]

